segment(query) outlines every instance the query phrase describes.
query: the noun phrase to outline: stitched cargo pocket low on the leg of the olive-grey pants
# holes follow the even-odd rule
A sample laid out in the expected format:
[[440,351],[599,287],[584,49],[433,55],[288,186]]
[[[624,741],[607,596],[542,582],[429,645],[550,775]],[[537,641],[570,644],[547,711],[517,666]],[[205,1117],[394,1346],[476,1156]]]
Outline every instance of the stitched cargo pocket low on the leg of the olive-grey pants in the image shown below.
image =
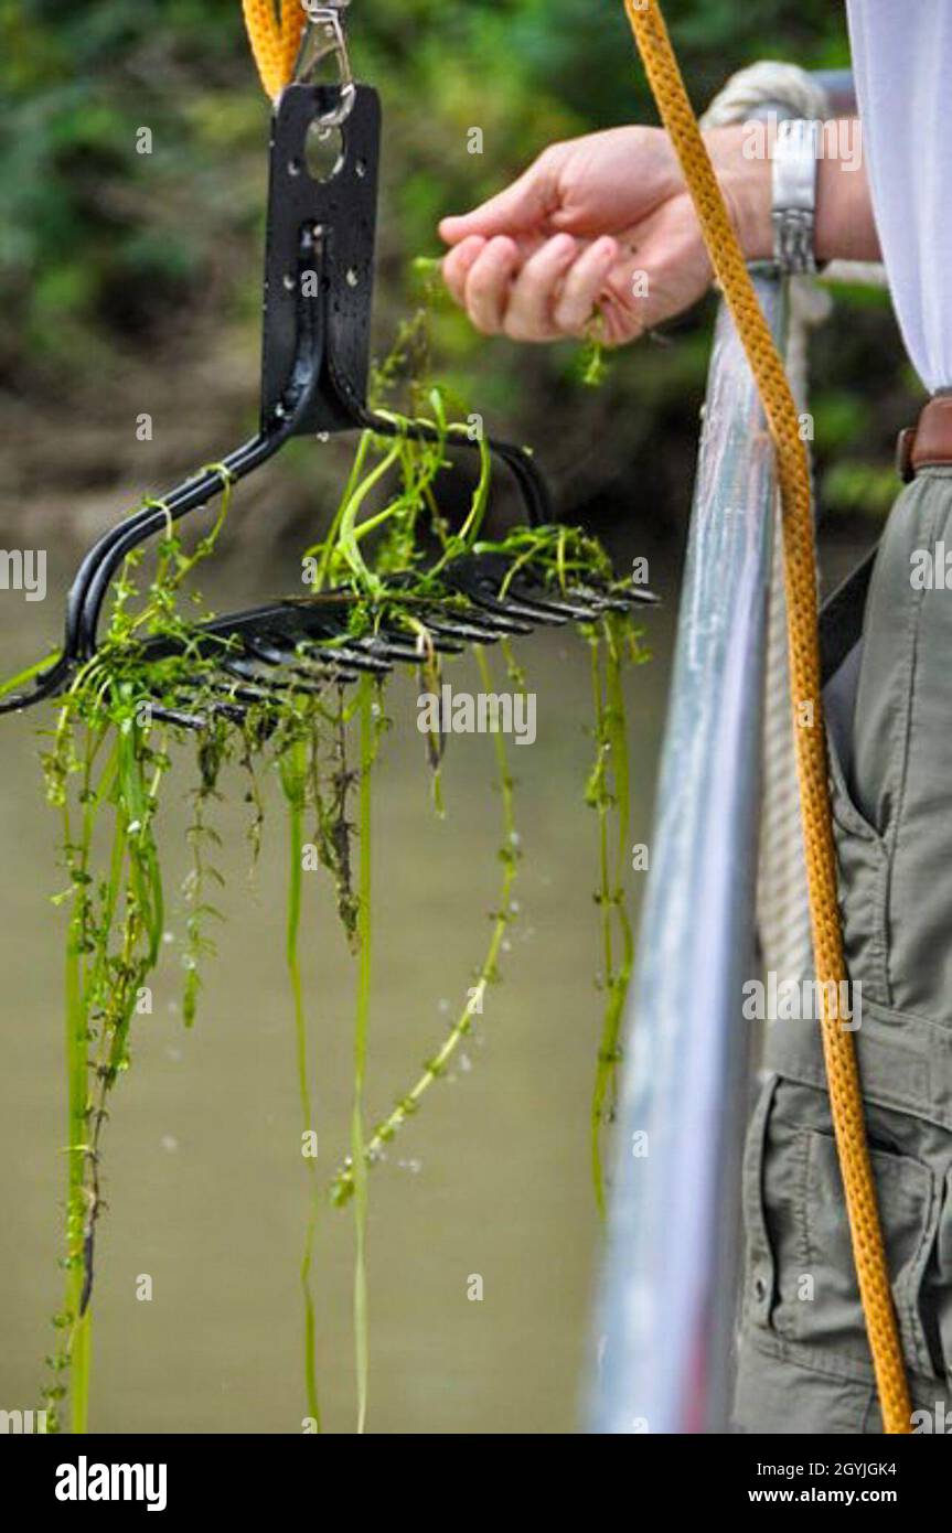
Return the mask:
[[[825,1118],[822,1091],[782,1078],[760,1099],[745,1165],[745,1308],[748,1321],[855,1377],[857,1363],[869,1364],[869,1344],[835,1142],[817,1127]],[[935,1180],[911,1156],[874,1147],[871,1157],[903,1351],[918,1374],[937,1377],[941,1358],[931,1355],[921,1317],[937,1240]]]

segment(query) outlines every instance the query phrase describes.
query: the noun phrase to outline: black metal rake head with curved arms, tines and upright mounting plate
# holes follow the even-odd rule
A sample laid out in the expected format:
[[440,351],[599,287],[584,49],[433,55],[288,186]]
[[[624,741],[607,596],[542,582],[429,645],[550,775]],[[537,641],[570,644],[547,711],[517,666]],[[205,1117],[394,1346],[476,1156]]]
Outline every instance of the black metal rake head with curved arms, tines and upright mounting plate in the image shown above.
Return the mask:
[[[313,135],[340,132],[340,155],[327,179],[308,172]],[[258,434],[213,468],[184,480],[161,500],[106,532],[72,583],[60,658],[29,688],[0,699],[18,711],[63,693],[98,645],[103,602],[123,561],[215,495],[245,478],[296,435],[371,429],[380,435],[443,442],[423,422],[397,422],[366,403],[374,277],[380,104],[369,86],[290,86],[271,127],[268,236]],[[468,437],[452,445],[478,448]],[[530,527],[552,520],[546,483],[529,452],[495,438],[494,458],[510,471]],[[451,558],[423,595],[414,622],[400,619],[400,578],[380,602],[373,632],[354,633],[353,590],[288,598],[198,625],[184,638],[161,636],[140,658],[201,661],[195,682],[175,688],[175,705],[155,708],[184,725],[204,725],[208,708],[242,717],[276,693],[323,690],[426,655],[460,653],[537,625],[595,621],[652,602],[645,590],[619,590],[587,578],[570,590],[546,583],[532,560],[500,553]],[[201,701],[199,701],[201,699]],[[212,699],[212,702],[210,702]],[[166,693],[167,701],[167,693]]]

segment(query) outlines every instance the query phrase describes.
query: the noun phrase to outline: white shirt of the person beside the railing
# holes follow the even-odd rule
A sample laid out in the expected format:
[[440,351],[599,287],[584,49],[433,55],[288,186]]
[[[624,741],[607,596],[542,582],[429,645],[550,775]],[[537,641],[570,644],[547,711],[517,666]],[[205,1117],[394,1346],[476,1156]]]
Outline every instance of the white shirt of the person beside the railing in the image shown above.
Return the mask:
[[952,0],[846,0],[872,208],[927,389],[952,386]]

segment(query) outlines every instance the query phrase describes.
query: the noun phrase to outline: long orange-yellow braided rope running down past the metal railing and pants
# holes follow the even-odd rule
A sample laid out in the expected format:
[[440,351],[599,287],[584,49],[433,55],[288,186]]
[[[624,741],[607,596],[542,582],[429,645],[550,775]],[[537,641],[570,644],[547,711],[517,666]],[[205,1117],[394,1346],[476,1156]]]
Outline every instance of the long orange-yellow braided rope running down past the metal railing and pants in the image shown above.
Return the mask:
[[[757,302],[658,0],[625,0],[625,12],[658,112],[681,161],[714,274],[754,374],[777,454],[777,478],[783,510],[783,578],[791,704],[800,782],[800,817],[809,880],[809,918],[822,995],[826,1081],[883,1427],[889,1433],[908,1433],[911,1432],[912,1407],[866,1144],[855,1047],[852,1033],[845,1032],[840,1026],[835,1001],[831,1004],[832,995],[842,993],[839,986],[846,969],[837,904],[826,736],[820,696],[809,463],[805,443],[800,440],[797,406],[783,371],[783,362]],[[808,705],[806,714],[803,713],[805,704]],[[805,716],[806,727],[803,727]],[[835,986],[835,992],[831,990],[831,986]]]

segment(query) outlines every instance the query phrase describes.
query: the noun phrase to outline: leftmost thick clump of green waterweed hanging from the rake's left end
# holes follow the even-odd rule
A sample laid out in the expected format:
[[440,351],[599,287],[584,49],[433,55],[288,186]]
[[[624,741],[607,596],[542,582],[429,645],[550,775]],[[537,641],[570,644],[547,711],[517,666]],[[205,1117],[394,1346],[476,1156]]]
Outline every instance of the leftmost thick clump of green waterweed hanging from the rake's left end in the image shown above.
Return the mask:
[[[129,1065],[130,1029],[136,1009],[149,1004],[147,978],[155,969],[164,929],[164,894],[155,845],[155,814],[162,777],[170,765],[169,731],[152,730],[150,702],[136,684],[132,650],[136,630],[182,622],[176,592],[205,558],[224,524],[228,495],[212,532],[185,553],[169,530],[156,570],[136,616],[133,555],[113,590],[109,641],[75,676],[60,705],[52,742],[43,754],[49,802],[63,825],[67,888],[55,903],[69,903],[66,934],[66,1095],[67,1190],[63,1268],[63,1311],[54,1317],[58,1344],[49,1358],[44,1403],[54,1429],[64,1398],[63,1378],[72,1371],[72,1427],[86,1429],[89,1397],[90,1297],[97,1225],[101,1214],[101,1141],[110,1093]],[[199,745],[199,796],[213,793],[219,750]],[[112,809],[112,845],[101,871],[95,862],[100,812]],[[201,858],[204,826],[193,840]],[[205,908],[198,898],[190,915],[189,954],[198,961]],[[193,1015],[196,981],[185,980],[185,1019]]]

